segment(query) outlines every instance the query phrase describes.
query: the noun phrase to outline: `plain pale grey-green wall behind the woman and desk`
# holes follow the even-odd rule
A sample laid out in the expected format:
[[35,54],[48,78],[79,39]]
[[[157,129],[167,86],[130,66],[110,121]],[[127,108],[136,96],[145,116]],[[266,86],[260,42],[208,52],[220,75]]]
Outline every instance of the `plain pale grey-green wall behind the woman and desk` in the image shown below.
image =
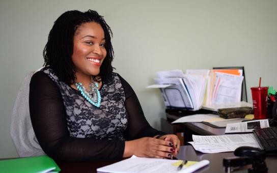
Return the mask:
[[94,9],[114,32],[114,66],[135,90],[149,123],[165,117],[155,72],[244,66],[251,86],[277,89],[277,1],[0,1],[0,158],[16,157],[12,105],[25,73],[43,64],[53,21],[67,10]]

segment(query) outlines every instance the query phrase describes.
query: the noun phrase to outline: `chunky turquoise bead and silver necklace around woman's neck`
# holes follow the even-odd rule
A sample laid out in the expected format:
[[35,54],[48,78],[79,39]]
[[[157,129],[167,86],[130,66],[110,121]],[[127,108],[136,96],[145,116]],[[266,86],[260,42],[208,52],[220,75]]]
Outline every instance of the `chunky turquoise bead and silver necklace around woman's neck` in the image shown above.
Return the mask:
[[86,90],[85,86],[81,82],[74,83],[76,88],[81,92],[81,95],[85,97],[92,105],[100,107],[101,95],[98,90],[97,82],[90,82],[89,91]]

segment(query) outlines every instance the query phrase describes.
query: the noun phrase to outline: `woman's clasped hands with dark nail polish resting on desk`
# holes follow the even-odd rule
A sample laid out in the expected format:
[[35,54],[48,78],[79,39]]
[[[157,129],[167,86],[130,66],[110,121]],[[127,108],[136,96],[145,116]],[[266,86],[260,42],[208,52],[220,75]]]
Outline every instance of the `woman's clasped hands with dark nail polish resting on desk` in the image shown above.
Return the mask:
[[[156,137],[156,136],[155,136]],[[143,137],[125,142],[123,157],[135,155],[137,157],[168,158],[178,154],[180,140],[176,135],[167,134],[155,137]]]

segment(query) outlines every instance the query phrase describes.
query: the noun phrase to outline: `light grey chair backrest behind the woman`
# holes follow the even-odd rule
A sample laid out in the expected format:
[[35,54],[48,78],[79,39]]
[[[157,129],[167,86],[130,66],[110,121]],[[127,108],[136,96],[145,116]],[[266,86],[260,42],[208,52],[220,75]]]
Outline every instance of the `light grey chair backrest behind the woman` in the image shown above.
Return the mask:
[[29,110],[30,81],[35,72],[25,75],[11,114],[10,134],[19,157],[45,155],[35,135]]

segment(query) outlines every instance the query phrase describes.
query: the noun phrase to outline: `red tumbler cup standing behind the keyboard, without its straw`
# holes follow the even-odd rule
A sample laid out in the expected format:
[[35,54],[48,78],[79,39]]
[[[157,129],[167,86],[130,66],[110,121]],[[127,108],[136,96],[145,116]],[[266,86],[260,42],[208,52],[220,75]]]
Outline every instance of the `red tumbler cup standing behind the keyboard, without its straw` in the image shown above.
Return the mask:
[[266,119],[266,97],[268,87],[252,87],[252,100],[255,119]]

